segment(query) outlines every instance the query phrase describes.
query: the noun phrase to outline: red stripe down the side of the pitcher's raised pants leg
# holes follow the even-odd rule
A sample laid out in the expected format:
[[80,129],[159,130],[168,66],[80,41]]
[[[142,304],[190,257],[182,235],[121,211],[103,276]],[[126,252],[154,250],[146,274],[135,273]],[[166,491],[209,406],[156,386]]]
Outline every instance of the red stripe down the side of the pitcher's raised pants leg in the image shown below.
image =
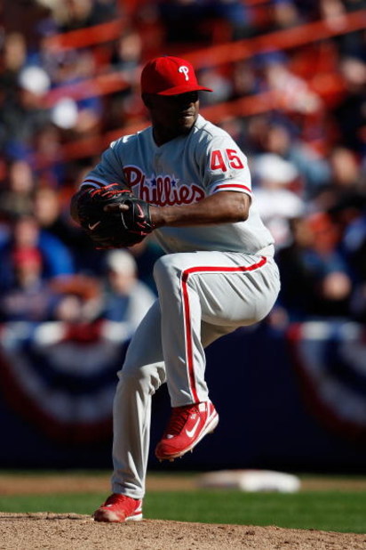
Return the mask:
[[197,388],[195,385],[195,366],[193,360],[193,343],[192,343],[192,326],[191,326],[191,314],[189,306],[189,295],[187,289],[187,280],[190,275],[195,273],[202,272],[225,272],[225,273],[237,273],[238,271],[255,271],[267,263],[267,257],[261,256],[261,259],[258,263],[253,263],[252,265],[244,266],[240,265],[238,267],[214,267],[214,266],[196,266],[190,267],[187,270],[183,271],[181,274],[181,287],[182,287],[182,297],[183,297],[183,320],[184,320],[184,332],[186,339],[186,358],[187,358],[187,371],[188,371],[188,384],[189,389],[192,394],[195,403],[198,403],[198,394]]

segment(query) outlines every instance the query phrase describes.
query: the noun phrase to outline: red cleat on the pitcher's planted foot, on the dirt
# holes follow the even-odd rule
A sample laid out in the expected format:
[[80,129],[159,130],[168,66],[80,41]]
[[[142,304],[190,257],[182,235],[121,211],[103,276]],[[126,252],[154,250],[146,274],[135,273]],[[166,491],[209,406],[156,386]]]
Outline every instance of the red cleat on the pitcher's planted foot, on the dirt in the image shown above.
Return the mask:
[[142,500],[113,494],[94,512],[95,522],[119,523],[142,520]]

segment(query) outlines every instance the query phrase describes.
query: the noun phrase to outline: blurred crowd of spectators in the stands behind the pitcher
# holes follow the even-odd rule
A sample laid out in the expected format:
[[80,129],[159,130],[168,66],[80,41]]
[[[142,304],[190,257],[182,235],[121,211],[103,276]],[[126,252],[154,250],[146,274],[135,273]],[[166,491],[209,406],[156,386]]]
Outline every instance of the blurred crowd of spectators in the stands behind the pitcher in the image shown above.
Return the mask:
[[[243,48],[243,59],[200,61],[199,79],[215,92],[201,106],[216,109],[212,122],[247,154],[275,236],[282,292],[273,322],[366,322],[366,33],[365,25],[339,31],[365,7],[362,0],[3,0],[0,321],[108,319],[133,331],[155,299],[152,266],[162,251],[153,239],[128,251],[94,250],[70,219],[69,198],[106,136],[147,124],[139,97],[147,59],[260,44],[272,33],[271,48],[251,55]],[[276,47],[277,33],[315,21],[329,37]],[[113,38],[100,38],[109,24],[117,25]],[[275,101],[266,108],[227,115],[233,109],[220,107],[267,93]]]

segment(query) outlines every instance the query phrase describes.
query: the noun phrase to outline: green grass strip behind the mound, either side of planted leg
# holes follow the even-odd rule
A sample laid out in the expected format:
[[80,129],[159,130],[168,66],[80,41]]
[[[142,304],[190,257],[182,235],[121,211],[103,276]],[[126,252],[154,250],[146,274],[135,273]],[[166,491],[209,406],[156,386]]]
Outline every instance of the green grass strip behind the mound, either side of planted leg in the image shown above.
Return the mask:
[[[105,493],[0,496],[3,512],[91,514]],[[366,533],[366,492],[349,490],[243,493],[228,490],[152,491],[147,519],[276,525],[284,528]]]

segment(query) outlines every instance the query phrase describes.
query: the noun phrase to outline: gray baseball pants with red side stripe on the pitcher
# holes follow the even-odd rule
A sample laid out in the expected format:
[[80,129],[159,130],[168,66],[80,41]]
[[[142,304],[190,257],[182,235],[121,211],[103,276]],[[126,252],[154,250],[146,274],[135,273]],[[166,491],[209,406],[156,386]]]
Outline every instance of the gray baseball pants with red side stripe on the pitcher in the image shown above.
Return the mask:
[[208,400],[204,348],[266,317],[280,289],[272,255],[164,255],[154,277],[159,297],[132,337],[114,400],[112,491],[133,498],[145,494],[156,390],[167,383],[172,407]]

